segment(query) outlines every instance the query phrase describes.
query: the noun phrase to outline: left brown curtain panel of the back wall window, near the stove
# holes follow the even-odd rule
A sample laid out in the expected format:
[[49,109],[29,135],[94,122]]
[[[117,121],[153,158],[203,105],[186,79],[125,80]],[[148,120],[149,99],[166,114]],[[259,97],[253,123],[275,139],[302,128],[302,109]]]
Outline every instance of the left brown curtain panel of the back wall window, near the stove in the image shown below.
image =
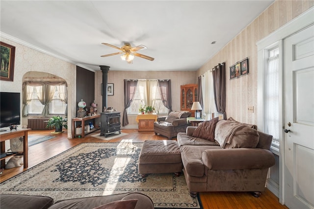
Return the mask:
[[136,92],[137,80],[124,80],[124,111],[122,118],[122,126],[129,124],[127,108],[131,106]]

